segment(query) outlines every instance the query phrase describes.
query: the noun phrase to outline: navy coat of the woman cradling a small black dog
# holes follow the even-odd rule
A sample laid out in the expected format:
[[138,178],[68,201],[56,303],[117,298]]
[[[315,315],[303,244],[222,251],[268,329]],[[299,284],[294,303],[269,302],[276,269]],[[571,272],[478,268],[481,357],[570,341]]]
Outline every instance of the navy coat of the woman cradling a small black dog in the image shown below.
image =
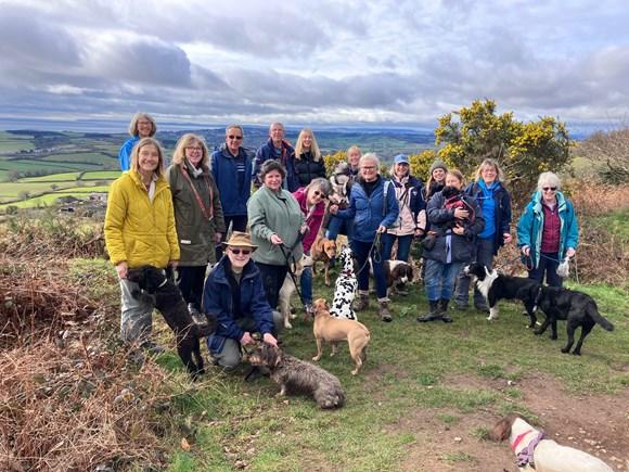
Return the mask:
[[[437,192],[431,197],[426,213],[431,231],[437,233],[437,241],[432,250],[424,250],[422,256],[426,259],[437,260],[441,264],[472,261],[474,256],[473,243],[476,235],[485,228],[485,220],[478,203],[470,195],[463,195],[463,199],[474,208],[474,222],[464,226],[464,234],[457,234],[450,228],[454,221],[454,208],[445,207],[446,197],[442,192]],[[450,260],[448,260],[448,248],[451,251]]]

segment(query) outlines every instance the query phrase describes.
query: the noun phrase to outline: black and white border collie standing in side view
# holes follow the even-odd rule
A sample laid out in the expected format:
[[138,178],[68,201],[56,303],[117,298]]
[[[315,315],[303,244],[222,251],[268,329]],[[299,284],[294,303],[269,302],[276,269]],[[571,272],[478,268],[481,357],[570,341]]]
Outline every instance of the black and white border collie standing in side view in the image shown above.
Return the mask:
[[500,299],[519,299],[524,303],[530,318],[528,328],[535,327],[537,304],[541,295],[541,285],[535,280],[523,277],[511,277],[487,270],[483,264],[472,263],[463,269],[466,276],[474,276],[478,291],[489,305],[488,320],[498,318],[498,302]]

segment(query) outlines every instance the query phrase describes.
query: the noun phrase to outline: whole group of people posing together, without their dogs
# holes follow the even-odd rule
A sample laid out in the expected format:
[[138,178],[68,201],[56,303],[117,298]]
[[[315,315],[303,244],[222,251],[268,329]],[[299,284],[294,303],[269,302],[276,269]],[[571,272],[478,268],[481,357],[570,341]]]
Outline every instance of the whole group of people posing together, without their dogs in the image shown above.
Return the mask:
[[[185,133],[165,168],[155,131],[151,116],[133,117],[132,138],[119,153],[125,173],[110,189],[104,228],[120,283],[121,337],[150,352],[161,350],[151,340],[153,307],[132,296],[129,268],[174,269],[191,315],[217,319],[207,340],[213,358],[233,368],[254,332],[277,345],[281,285],[291,263],[308,254],[318,235],[347,235],[357,260],[356,310],[369,307],[371,261],[383,321],[393,319],[384,263],[394,246],[396,259],[408,261],[412,242],[421,240],[429,304],[421,322],[452,321],[452,296],[457,308],[466,309],[470,280],[462,266],[478,260],[491,269],[499,248],[512,241],[511,197],[490,158],[467,186],[459,170],[436,161],[424,186],[411,175],[408,156],[395,156],[385,178],[378,157],[355,145],[328,179],[312,130],[303,129],[293,148],[282,124],[273,123],[255,153],[243,145],[240,125],[226,128],[224,143],[211,154],[203,138]],[[529,277],[541,282],[545,275],[549,284],[561,285],[556,267],[574,256],[577,243],[574,208],[559,177],[543,173],[517,225]],[[300,285],[311,304],[310,268]],[[477,292],[474,306],[487,310]]]

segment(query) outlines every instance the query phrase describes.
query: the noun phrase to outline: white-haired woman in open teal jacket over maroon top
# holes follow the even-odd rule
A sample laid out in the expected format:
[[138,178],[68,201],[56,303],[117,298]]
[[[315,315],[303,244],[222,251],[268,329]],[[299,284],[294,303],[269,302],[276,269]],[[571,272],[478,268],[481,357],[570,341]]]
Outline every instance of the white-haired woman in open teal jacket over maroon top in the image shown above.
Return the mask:
[[551,286],[562,286],[557,266],[573,257],[579,244],[579,227],[573,204],[560,191],[560,178],[543,173],[537,192],[517,224],[517,246],[528,269],[528,278]]

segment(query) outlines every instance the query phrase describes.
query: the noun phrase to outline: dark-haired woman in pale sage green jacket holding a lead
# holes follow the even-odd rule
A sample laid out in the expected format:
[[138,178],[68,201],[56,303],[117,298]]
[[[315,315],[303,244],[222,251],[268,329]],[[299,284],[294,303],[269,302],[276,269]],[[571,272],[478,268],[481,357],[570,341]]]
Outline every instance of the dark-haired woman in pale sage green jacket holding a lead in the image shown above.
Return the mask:
[[282,189],[286,170],[274,160],[265,161],[259,178],[262,186],[247,203],[252,241],[258,246],[252,258],[262,272],[262,283],[272,309],[288,271],[286,256],[299,260],[304,254],[301,234],[308,230],[304,214],[291,192]]

